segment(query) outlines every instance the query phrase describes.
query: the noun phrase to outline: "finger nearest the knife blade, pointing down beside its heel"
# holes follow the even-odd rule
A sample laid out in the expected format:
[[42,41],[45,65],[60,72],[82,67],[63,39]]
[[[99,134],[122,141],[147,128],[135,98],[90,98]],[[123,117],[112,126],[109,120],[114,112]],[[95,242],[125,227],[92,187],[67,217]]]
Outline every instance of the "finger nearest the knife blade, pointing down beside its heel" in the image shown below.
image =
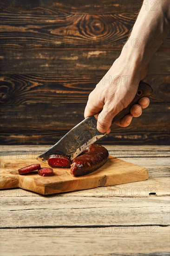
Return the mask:
[[98,115],[97,129],[100,133],[105,133],[110,127],[113,115],[104,105],[103,110]]

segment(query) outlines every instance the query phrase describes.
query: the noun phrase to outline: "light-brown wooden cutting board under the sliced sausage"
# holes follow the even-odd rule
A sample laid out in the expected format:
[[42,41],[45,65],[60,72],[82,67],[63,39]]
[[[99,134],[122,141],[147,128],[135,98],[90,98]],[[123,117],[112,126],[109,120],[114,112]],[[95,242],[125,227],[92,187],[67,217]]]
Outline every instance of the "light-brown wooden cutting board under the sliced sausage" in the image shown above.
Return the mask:
[[[22,188],[43,195],[68,191],[92,189],[100,186],[111,186],[148,179],[148,171],[142,166],[125,162],[109,156],[108,161],[89,175],[75,177],[70,168],[53,168],[54,175],[41,177],[38,172],[19,175],[18,169],[33,163],[35,158],[16,159],[16,156],[3,156],[0,160],[0,189]],[[41,167],[48,167],[41,164]]]

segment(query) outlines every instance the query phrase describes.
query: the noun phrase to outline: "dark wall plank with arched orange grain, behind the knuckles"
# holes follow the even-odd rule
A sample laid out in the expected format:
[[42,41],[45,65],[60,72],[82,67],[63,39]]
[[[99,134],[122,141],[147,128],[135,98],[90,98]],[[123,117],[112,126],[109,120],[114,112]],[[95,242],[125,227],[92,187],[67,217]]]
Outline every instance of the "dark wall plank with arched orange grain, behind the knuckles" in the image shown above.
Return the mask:
[[[27,104],[52,101],[59,103],[86,103],[88,95],[102,79],[88,74],[11,74],[0,76],[0,103]],[[170,101],[170,75],[153,74],[144,79],[154,89],[150,101]],[[48,95],[48,97],[46,97]]]

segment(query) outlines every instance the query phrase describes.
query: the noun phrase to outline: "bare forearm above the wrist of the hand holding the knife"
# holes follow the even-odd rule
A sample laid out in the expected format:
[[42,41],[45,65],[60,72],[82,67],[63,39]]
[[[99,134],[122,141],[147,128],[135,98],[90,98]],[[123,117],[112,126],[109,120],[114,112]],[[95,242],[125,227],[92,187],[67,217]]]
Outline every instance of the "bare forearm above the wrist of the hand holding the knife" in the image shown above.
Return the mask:
[[169,33],[169,21],[169,0],[144,0],[121,55],[134,60],[137,68],[147,67]]

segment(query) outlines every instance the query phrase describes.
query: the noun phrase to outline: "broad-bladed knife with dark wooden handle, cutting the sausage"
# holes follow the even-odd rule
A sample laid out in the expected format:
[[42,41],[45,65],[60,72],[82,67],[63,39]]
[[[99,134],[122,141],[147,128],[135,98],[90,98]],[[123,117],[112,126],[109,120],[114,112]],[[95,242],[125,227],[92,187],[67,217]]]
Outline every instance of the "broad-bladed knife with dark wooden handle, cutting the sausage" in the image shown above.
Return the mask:
[[[124,108],[113,118],[113,122],[119,121],[125,115],[130,113],[130,108],[132,105],[137,104],[142,97],[150,96],[152,92],[153,89],[151,86],[141,81],[133,101],[128,105],[127,108]],[[97,130],[97,118],[95,115],[89,116],[72,128],[66,135],[64,135],[64,137],[62,137],[54,146],[52,146],[52,148],[49,148],[45,153],[39,155],[36,159],[40,162],[48,163],[48,157],[50,155],[57,154],[65,155],[73,160],[83,150],[85,150],[85,148],[103,136],[105,136],[105,133],[100,133]]]

